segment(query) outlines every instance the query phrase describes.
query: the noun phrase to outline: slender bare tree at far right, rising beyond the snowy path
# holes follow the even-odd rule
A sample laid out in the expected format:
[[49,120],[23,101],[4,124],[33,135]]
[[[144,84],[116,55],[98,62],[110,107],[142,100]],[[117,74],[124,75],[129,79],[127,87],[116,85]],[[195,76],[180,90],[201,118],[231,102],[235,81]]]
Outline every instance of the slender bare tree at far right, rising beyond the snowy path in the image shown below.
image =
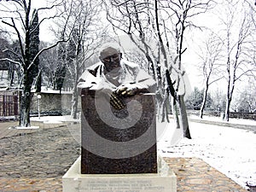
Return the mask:
[[236,81],[245,75],[253,75],[255,65],[248,55],[252,47],[253,22],[247,13],[247,5],[241,1],[224,1],[224,11],[221,15],[225,36],[225,65],[227,81],[227,98],[224,119],[229,121],[230,103],[236,86]]

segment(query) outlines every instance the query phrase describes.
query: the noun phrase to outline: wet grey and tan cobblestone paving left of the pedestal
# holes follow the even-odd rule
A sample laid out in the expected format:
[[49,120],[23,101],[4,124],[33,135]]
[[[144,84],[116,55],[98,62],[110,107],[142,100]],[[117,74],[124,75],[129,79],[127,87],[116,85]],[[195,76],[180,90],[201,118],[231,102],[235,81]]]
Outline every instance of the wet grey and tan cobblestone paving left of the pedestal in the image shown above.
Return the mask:
[[61,191],[80,148],[66,125],[0,139],[0,191]]

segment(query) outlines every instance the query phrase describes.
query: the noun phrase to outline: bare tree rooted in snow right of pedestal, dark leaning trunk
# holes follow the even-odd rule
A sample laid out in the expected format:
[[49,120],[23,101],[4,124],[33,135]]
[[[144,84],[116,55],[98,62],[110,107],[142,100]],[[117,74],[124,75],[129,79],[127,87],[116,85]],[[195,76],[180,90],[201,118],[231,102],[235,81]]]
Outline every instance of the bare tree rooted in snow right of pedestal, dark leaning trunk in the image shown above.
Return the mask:
[[[199,28],[199,26],[195,25],[193,19],[201,14],[207,12],[208,9],[211,9],[213,5],[213,1],[206,0],[206,1],[167,1],[164,7],[168,8],[172,13],[172,34],[174,35],[174,42],[175,42],[175,49],[177,53],[177,73],[179,76],[184,75],[182,69],[182,59],[183,53],[187,48],[184,48],[184,40],[185,40],[185,31],[192,28]],[[171,71],[172,73],[172,71]],[[178,90],[179,85],[182,83],[182,79],[176,78],[177,82],[175,84],[176,90]],[[186,84],[184,84],[185,86]],[[184,136],[189,136],[189,121],[186,113],[185,103],[184,103],[184,96],[183,94],[177,94],[177,101],[178,107],[181,113],[181,120],[183,124],[183,131]]]

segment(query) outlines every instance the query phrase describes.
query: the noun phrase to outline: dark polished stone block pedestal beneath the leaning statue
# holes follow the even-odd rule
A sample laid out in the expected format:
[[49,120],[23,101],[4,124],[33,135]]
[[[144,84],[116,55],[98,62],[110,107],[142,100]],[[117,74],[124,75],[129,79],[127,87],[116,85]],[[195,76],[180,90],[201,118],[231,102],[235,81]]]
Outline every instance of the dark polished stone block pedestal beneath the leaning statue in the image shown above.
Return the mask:
[[105,93],[83,89],[81,97],[81,173],[156,173],[154,94],[122,98],[121,110]]

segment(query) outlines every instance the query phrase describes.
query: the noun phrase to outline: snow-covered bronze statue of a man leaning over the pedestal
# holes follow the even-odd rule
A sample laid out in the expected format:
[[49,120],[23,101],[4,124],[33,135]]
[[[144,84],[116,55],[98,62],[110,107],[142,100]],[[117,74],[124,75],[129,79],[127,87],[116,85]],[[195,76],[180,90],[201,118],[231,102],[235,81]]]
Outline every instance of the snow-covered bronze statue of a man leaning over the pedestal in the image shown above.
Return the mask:
[[155,91],[155,81],[136,63],[122,59],[118,48],[108,46],[100,51],[101,62],[86,68],[79,79],[79,88],[88,88],[110,96],[113,108],[125,108],[127,96]]

